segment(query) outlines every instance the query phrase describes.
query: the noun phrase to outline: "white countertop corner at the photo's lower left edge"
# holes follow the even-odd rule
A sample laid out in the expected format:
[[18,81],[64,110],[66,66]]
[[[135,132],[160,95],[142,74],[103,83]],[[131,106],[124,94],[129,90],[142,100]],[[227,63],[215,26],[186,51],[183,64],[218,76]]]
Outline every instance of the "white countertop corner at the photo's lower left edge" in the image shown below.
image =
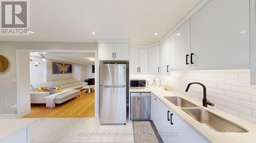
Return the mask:
[[29,127],[37,119],[0,119],[0,142]]

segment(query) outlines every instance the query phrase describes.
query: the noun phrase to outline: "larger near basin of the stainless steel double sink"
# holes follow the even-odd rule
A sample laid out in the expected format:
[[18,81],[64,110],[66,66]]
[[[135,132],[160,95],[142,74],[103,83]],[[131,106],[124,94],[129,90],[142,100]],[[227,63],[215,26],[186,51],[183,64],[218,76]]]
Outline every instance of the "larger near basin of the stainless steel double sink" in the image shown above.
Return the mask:
[[231,123],[214,113],[201,108],[181,108],[190,117],[217,132],[248,132],[244,128]]

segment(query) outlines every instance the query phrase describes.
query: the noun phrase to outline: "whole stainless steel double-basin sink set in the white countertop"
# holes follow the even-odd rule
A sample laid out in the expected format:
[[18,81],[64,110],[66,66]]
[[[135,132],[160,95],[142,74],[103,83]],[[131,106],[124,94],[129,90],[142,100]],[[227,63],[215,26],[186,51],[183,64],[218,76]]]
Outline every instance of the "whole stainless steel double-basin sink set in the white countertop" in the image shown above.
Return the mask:
[[164,97],[169,102],[178,106],[187,115],[197,120],[199,123],[205,125],[207,128],[217,132],[248,132],[244,128],[236,125],[212,112],[209,112],[197,105],[180,97]]

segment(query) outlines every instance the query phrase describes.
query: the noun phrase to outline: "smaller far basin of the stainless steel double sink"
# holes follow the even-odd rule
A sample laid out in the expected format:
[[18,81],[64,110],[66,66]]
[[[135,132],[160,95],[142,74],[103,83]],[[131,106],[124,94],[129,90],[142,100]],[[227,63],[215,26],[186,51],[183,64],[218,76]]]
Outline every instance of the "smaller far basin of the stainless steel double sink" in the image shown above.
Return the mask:
[[187,100],[180,98],[180,97],[164,97],[164,98],[180,108],[197,107],[197,105],[190,103]]

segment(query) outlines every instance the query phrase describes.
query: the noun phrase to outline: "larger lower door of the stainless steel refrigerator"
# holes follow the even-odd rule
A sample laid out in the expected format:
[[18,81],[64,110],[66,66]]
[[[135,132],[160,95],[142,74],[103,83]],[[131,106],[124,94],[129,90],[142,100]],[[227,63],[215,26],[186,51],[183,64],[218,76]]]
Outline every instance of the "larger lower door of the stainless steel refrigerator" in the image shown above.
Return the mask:
[[100,124],[126,124],[126,86],[100,86]]

